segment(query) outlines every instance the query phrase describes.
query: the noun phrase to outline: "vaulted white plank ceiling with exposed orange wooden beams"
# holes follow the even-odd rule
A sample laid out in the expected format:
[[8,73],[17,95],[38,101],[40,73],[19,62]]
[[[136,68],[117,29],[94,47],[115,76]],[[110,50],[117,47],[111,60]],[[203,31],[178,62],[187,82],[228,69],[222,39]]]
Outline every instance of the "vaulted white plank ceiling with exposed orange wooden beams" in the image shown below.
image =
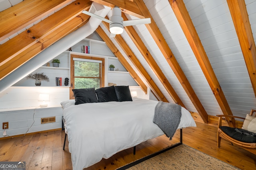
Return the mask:
[[90,16],[82,11],[92,2],[118,6],[124,20],[151,18],[114,38],[105,22],[96,29],[144,91],[149,86],[205,123],[208,115],[245,117],[256,108],[254,0],[4,0],[0,80],[85,25]]

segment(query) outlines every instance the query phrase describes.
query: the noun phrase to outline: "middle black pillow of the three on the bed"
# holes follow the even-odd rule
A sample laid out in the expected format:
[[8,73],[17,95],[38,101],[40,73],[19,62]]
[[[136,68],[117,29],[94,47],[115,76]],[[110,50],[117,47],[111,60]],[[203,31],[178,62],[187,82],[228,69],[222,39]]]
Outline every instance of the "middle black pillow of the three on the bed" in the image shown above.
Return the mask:
[[114,86],[98,88],[95,92],[99,102],[118,102]]

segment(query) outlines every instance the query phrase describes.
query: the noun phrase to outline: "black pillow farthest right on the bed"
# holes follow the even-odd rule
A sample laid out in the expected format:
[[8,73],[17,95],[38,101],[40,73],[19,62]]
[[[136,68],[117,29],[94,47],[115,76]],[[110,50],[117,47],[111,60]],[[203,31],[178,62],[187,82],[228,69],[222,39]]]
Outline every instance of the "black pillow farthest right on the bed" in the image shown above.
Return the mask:
[[129,86],[115,86],[118,102],[132,101]]

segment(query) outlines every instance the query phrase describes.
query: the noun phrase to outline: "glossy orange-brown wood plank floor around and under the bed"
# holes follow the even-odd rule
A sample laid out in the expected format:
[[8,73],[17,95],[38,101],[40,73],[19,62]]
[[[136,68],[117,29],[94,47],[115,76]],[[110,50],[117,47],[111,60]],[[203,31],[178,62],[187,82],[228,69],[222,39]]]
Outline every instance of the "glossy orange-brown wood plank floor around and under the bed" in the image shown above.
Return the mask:
[[[221,147],[216,147],[217,127],[201,122],[196,124],[197,127],[183,129],[184,144],[242,170],[256,169],[256,155],[238,146],[232,146],[224,139],[221,141]],[[0,140],[0,161],[25,161],[28,170],[72,170],[68,141],[65,150],[62,150],[64,136],[64,131],[57,130],[2,139]],[[136,155],[133,155],[133,149],[123,150],[85,170],[114,170],[178,141],[179,131],[176,132],[172,141],[163,135],[138,145]]]

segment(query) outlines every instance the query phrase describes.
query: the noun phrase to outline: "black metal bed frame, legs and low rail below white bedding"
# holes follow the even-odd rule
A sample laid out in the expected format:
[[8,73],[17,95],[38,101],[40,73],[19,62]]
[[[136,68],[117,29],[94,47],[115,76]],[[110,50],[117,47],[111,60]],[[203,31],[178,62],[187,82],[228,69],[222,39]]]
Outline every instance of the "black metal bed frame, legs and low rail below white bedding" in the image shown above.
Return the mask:
[[[65,129],[65,128],[64,128],[64,124],[65,124],[65,119],[64,119],[63,116],[62,116],[62,131]],[[64,144],[63,144],[63,150],[65,150],[66,138],[67,138],[67,134],[65,133],[65,139],[64,139]],[[178,147],[178,146],[180,146],[180,145],[182,145],[182,129],[180,129],[180,142],[175,143],[174,145],[170,145],[169,147],[166,147],[166,148],[164,148],[164,149],[162,149],[162,150],[159,150],[158,152],[154,152],[154,153],[152,153],[152,154],[150,154],[150,155],[148,155],[148,156],[146,156],[146,157],[143,157],[143,158],[141,158],[141,159],[139,159],[139,160],[136,160],[136,161],[134,161],[134,162],[131,162],[130,164],[127,164],[127,165],[125,165],[125,166],[122,166],[122,167],[120,167],[120,168],[118,168],[118,169],[116,169],[116,170],[126,170],[127,168],[130,168],[130,167],[132,167],[132,166],[134,166],[134,165],[136,165],[136,164],[139,164],[139,163],[141,163],[141,162],[143,162],[143,161],[145,161],[145,160],[148,160],[148,159],[150,159],[150,158],[152,158],[152,157],[154,157],[154,156],[156,156],[156,155],[158,155],[158,154],[161,154],[161,153],[163,153],[163,152],[166,152],[167,150],[173,149],[173,148]],[[133,154],[136,154],[136,146],[133,147]]]

